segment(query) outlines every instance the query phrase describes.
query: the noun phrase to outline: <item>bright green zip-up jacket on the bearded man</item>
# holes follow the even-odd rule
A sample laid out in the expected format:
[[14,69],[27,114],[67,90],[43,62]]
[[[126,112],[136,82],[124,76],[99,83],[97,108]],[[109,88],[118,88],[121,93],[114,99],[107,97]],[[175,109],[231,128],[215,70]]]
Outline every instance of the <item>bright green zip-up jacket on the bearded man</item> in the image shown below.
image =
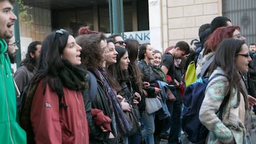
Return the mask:
[[0,143],[27,143],[26,133],[17,123],[16,95],[7,44],[0,40]]

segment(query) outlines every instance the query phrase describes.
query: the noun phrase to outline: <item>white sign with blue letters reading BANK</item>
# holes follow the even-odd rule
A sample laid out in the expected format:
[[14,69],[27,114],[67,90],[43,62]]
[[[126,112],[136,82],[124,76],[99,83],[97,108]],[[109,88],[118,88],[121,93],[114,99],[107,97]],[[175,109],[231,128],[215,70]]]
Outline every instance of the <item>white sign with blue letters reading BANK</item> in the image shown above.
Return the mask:
[[[106,36],[109,36],[109,33],[106,33]],[[142,43],[150,43],[150,31],[149,30],[143,30],[143,31],[137,31],[137,32],[124,32],[124,40],[127,38],[129,39],[135,39],[139,41],[140,44]]]

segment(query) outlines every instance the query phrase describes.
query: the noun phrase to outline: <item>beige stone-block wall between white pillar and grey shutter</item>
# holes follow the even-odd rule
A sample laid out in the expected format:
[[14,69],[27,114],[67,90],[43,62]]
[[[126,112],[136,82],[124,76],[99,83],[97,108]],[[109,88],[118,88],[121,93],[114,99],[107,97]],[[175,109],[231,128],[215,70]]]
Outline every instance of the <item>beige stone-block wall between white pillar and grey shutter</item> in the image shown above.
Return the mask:
[[198,39],[198,28],[221,15],[221,1],[218,0],[168,0],[169,46],[177,41]]

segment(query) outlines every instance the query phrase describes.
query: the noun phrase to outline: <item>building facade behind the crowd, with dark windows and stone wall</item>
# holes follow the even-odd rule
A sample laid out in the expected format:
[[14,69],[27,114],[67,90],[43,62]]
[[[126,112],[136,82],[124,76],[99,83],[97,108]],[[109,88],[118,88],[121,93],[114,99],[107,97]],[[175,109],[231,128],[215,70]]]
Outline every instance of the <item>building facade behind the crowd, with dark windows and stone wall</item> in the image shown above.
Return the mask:
[[[92,30],[110,33],[108,1],[92,1],[80,6],[73,6],[71,1],[70,4],[66,1],[66,5],[65,1],[58,1],[58,6],[51,2],[23,1],[32,7],[28,13],[33,15],[33,22],[20,22],[22,54],[30,41],[43,41],[58,28],[66,28],[76,35],[79,27],[90,25]],[[42,0],[46,1],[51,0]],[[124,0],[123,7],[125,38],[143,39],[141,43],[148,39],[153,48],[160,51],[177,41],[190,43],[198,39],[200,25],[221,15],[229,17],[233,25],[241,26],[248,43],[256,41],[254,0]]]

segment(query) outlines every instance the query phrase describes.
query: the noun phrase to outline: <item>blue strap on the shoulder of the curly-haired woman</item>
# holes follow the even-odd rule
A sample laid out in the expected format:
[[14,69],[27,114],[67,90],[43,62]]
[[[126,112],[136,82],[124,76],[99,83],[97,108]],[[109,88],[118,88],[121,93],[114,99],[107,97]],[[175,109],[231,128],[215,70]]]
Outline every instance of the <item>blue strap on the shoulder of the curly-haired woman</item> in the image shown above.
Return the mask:
[[95,76],[92,74],[92,72],[90,72],[89,70],[87,70],[87,74],[89,75],[90,77],[90,80],[89,80],[89,96],[90,96],[90,99],[93,100],[96,96],[96,93],[97,93],[97,80],[95,78]]

